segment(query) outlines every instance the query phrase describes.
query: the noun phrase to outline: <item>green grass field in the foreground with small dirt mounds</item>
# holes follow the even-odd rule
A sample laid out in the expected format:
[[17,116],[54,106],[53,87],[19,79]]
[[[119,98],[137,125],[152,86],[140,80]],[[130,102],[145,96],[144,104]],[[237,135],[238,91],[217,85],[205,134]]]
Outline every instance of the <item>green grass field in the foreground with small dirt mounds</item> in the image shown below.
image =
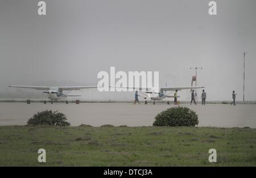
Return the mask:
[[0,126],[0,166],[256,166],[256,129]]

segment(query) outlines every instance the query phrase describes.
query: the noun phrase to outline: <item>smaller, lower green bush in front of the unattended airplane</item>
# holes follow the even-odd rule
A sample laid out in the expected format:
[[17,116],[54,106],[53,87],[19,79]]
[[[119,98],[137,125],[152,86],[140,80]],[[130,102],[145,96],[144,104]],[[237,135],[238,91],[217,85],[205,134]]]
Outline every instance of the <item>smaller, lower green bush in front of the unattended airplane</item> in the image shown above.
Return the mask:
[[52,112],[51,110],[42,111],[36,113],[31,117],[27,124],[29,125],[55,125],[55,126],[69,126],[70,123],[67,122],[67,117],[60,112]]

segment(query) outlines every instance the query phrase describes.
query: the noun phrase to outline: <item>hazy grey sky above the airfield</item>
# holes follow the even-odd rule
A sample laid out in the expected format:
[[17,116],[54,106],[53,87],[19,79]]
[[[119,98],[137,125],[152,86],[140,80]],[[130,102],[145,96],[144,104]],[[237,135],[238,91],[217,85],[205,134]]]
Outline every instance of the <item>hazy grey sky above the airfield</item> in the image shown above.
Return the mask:
[[[49,81],[97,84],[99,71],[159,71],[160,86],[206,86],[209,100],[256,100],[256,1],[0,1],[0,90]],[[57,83],[56,85],[59,85]],[[14,90],[14,89],[8,89]],[[133,92],[82,92],[86,99],[133,99]],[[188,99],[190,92],[180,92]]]

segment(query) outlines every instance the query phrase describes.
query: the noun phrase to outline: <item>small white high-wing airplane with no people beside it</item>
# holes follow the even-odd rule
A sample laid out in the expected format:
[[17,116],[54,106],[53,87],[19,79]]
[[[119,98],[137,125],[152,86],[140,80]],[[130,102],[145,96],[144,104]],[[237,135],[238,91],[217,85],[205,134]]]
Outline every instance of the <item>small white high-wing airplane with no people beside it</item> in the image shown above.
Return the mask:
[[81,96],[81,95],[68,95],[73,90],[97,88],[97,86],[81,86],[81,87],[39,87],[39,86],[9,86],[15,88],[30,88],[36,90],[44,90],[44,94],[48,94],[48,99],[63,100],[68,96]]

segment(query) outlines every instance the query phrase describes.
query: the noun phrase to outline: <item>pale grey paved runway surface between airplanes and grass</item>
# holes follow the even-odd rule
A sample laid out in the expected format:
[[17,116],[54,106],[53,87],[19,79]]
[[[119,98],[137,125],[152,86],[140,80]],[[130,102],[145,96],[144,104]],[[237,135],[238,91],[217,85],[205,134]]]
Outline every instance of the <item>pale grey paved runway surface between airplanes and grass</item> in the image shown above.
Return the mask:
[[[256,128],[256,105],[230,104],[189,105],[181,104],[196,111],[198,126]],[[128,103],[80,103],[80,104],[41,104],[41,103],[0,103],[0,125],[26,125],[34,113],[51,109],[63,112],[72,126],[89,124],[101,126],[152,126],[154,117],[164,109],[175,107],[167,104],[128,104]]]

